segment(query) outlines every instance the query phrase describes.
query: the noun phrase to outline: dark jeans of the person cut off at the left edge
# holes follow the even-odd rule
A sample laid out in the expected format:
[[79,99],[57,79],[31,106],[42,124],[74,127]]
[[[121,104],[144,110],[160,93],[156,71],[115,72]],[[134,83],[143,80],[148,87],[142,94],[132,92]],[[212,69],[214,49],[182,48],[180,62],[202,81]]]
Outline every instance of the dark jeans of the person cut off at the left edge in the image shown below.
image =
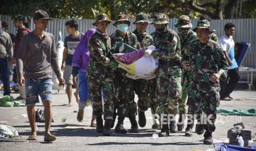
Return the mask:
[[0,58],[0,74],[2,75],[3,81],[3,95],[10,95],[9,65],[7,58]]

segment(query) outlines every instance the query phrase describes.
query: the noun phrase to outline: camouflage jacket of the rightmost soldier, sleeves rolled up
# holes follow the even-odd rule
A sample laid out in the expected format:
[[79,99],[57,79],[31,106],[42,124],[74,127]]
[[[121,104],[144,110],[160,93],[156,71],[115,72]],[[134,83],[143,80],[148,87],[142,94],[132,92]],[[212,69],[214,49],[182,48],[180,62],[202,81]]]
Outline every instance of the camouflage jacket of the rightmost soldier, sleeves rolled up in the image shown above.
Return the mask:
[[[227,75],[227,61],[220,45],[209,38],[208,43],[202,44],[198,39],[189,43],[189,62],[192,65],[191,78],[193,83],[219,86],[219,83],[210,82],[211,74]],[[207,86],[206,86],[207,87]]]

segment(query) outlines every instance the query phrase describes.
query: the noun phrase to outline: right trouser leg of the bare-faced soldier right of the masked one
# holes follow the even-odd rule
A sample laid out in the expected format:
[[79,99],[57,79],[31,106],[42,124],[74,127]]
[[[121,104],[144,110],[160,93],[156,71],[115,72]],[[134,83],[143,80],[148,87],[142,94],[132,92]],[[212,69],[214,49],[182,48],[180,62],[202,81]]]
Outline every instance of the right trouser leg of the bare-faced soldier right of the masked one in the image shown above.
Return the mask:
[[157,83],[156,78],[147,80],[149,88],[150,108],[152,114],[157,114],[159,102],[157,102]]

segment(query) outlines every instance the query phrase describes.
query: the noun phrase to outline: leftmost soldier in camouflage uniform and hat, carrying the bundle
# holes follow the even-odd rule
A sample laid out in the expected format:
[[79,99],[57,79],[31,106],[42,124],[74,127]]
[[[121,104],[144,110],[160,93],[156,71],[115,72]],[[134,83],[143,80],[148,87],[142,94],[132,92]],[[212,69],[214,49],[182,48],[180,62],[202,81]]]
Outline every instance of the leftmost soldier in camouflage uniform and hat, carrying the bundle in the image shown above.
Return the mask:
[[[93,114],[96,115],[96,131],[110,136],[110,127],[113,120],[113,69],[110,62],[110,37],[106,32],[110,20],[106,14],[97,15],[92,24],[97,27],[95,34],[89,40],[90,65],[88,67],[88,82],[93,101]],[[104,94],[104,111],[102,95]],[[102,114],[104,113],[105,125],[103,126]]]

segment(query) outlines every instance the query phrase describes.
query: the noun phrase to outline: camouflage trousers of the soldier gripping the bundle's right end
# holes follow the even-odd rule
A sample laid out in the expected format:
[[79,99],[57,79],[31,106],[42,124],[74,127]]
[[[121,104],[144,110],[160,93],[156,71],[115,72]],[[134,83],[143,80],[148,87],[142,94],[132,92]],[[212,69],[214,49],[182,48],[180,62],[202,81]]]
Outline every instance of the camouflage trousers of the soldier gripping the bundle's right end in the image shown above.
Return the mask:
[[181,99],[181,68],[159,67],[157,74],[157,90],[159,114],[177,114],[178,100]]

